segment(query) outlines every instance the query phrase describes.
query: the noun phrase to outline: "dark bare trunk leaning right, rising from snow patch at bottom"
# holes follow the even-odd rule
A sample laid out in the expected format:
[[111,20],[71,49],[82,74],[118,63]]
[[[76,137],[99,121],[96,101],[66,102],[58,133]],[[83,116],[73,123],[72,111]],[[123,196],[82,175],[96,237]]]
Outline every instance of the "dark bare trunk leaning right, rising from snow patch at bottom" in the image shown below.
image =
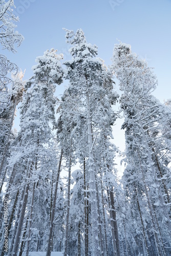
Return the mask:
[[56,183],[55,183],[55,191],[53,196],[53,204],[52,204],[52,212],[51,212],[51,219],[50,219],[50,229],[49,229],[49,238],[48,238],[48,247],[47,247],[47,256],[51,255],[51,246],[52,246],[52,233],[53,233],[53,221],[55,216],[55,207],[56,207],[56,197],[57,197],[57,189],[58,189],[58,183],[59,183],[59,175],[60,175],[60,168],[61,168],[61,162],[62,162],[62,150],[60,153],[60,159],[58,164],[58,172],[56,177]]

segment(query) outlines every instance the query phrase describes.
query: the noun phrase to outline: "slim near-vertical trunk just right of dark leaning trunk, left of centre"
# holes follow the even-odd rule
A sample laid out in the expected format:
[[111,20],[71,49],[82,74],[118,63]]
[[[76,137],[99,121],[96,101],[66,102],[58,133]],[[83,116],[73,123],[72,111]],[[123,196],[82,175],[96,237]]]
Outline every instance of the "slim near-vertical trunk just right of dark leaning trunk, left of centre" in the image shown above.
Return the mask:
[[[71,124],[71,133],[72,133],[72,129],[73,129],[73,123]],[[68,247],[69,215],[70,215],[71,163],[72,163],[72,138],[70,139],[69,170],[68,170],[67,214],[66,214],[66,230],[65,230],[65,239],[64,239],[64,246],[63,246],[64,247],[63,256],[67,256],[67,247]]]

